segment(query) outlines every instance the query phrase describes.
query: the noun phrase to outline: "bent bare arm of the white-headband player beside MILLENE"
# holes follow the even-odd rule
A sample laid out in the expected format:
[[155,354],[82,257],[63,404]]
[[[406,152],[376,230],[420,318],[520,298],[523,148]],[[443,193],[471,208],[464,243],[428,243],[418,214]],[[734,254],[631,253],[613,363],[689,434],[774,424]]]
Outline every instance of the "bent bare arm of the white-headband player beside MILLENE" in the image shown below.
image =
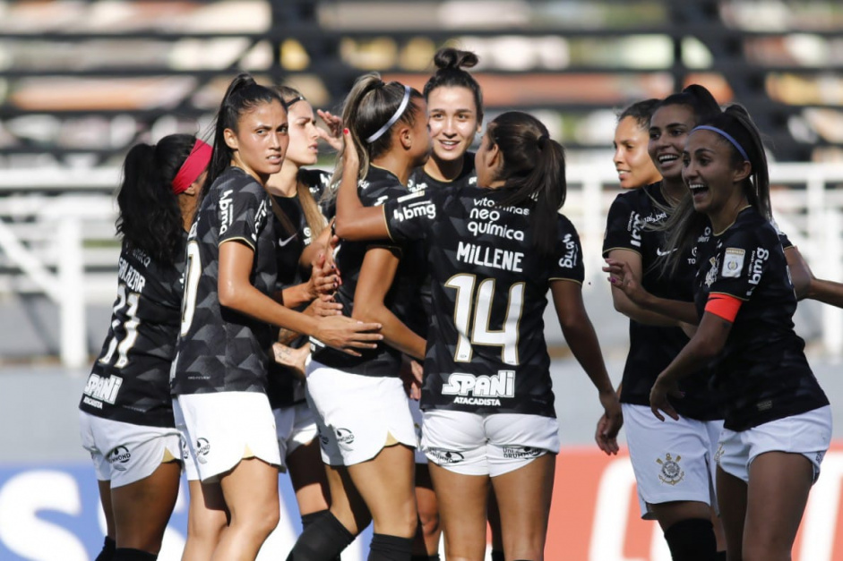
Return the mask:
[[366,251],[357,288],[352,317],[382,325],[383,341],[401,353],[424,360],[426,341],[398,319],[383,301],[389,292],[400,259],[389,249],[375,247]]

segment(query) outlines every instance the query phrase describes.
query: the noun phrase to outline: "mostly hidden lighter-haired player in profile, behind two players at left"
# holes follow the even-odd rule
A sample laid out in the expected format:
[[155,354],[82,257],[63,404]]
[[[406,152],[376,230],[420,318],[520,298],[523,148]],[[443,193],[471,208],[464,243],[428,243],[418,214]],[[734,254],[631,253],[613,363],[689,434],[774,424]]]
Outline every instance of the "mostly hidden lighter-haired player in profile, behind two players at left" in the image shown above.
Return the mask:
[[[316,163],[318,140],[329,137],[316,126],[313,107],[297,89],[278,86],[276,90],[287,107],[289,121],[287,155],[280,173],[271,175],[267,183],[277,209],[278,284],[283,287],[284,304],[290,308],[316,302],[325,309],[320,314],[340,314],[341,304],[331,297],[339,286],[333,259],[327,264],[327,275],[318,275],[320,266],[325,267],[318,261],[311,274],[317,253],[326,251],[330,244],[331,230],[317,201],[322,199],[331,174],[305,166]],[[328,480],[315,440],[314,412],[305,401],[303,378],[310,348],[305,337],[286,330],[280,335],[285,340],[273,344],[276,361],[270,365],[268,395],[275,414],[281,461],[288,469],[306,529],[327,513]]]

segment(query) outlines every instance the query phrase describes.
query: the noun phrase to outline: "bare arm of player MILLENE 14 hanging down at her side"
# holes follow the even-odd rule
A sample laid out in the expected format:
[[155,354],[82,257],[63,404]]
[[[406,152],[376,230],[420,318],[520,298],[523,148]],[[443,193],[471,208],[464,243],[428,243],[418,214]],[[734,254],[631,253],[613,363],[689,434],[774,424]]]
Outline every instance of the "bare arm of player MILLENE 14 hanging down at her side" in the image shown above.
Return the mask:
[[624,417],[612,381],[606,372],[597,333],[582,302],[582,286],[573,281],[559,279],[551,281],[550,292],[565,341],[586,371],[591,383],[598,389],[600,404],[603,405],[604,419],[598,434],[595,435],[598,446],[606,454],[616,454],[617,432],[624,424]]

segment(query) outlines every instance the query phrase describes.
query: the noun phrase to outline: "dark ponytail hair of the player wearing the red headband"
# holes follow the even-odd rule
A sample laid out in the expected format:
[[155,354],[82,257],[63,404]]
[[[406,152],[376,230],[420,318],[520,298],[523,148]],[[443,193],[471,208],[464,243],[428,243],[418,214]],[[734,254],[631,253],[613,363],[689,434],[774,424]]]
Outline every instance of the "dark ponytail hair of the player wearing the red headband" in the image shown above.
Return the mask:
[[190,134],[170,134],[158,144],[137,144],[123,164],[117,234],[163,264],[171,265],[178,257],[185,225],[173,180],[195,142]]

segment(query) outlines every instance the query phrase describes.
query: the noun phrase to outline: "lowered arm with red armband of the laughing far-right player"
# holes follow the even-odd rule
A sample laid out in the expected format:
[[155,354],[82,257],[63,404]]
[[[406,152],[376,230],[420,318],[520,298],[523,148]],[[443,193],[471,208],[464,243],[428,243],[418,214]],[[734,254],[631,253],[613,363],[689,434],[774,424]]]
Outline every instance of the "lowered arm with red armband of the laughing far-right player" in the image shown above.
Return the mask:
[[667,396],[681,397],[679,380],[700,370],[701,364],[705,364],[723,351],[740,305],[741,301],[734,296],[719,293],[710,295],[700,326],[697,327],[691,341],[658,375],[650,390],[650,409],[660,421],[664,421],[665,418],[659,410],[666,412],[672,419],[679,419],[679,414],[675,412]]

